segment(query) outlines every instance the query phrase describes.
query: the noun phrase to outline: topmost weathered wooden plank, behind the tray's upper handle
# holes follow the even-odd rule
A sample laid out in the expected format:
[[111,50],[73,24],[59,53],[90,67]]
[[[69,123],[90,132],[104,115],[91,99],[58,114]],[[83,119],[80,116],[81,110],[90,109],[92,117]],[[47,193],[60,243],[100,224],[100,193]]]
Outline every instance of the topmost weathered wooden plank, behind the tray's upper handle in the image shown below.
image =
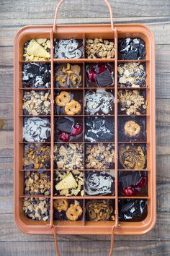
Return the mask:
[[[149,16],[169,16],[170,3],[169,0],[143,0],[141,1],[124,1],[110,0],[110,4],[114,9],[115,17],[149,17]],[[2,1],[1,3],[1,19],[42,19],[53,18],[53,13],[57,1]],[[81,11],[80,11],[81,10]],[[67,0],[61,6],[60,17],[68,19],[68,17],[108,17],[108,10],[104,1],[94,0]]]

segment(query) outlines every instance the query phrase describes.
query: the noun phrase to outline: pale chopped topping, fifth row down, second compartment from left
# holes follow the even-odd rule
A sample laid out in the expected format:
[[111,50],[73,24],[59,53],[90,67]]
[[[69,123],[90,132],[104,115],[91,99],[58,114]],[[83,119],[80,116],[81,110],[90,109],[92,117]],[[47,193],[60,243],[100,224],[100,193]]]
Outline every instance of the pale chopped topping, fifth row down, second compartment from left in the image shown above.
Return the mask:
[[55,145],[54,161],[58,169],[83,169],[84,146],[78,143]]

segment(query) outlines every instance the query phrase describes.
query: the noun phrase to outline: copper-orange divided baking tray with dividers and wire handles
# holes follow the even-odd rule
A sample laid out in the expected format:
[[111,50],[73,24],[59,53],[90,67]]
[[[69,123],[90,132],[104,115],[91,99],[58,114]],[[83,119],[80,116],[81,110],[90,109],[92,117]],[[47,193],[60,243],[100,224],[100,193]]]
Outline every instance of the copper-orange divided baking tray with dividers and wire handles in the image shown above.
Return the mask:
[[[154,38],[153,33],[148,27],[140,24],[116,24],[112,22],[112,10],[109,6],[108,1],[105,1],[109,7],[111,16],[110,24],[90,24],[90,25],[55,25],[58,14],[58,8],[63,0],[59,3],[56,12],[54,25],[38,25],[38,26],[27,26],[22,27],[17,32],[14,40],[14,220],[17,223],[19,229],[27,234],[113,234],[117,235],[135,235],[145,234],[153,228],[156,222],[156,132],[155,132],[155,49],[154,49]],[[141,38],[146,43],[146,59],[141,60],[120,60],[117,54],[117,40],[119,38]],[[24,195],[24,171],[23,171],[23,142],[22,128],[23,118],[22,113],[22,65],[23,60],[23,47],[27,40],[32,38],[48,38],[50,39],[50,61],[44,61],[50,63],[51,72],[51,85],[50,85],[50,179],[51,179],[51,193],[50,196],[50,221],[33,221],[24,216],[23,212],[23,197]],[[112,39],[115,41],[115,59],[86,59],[85,54],[83,59],[54,59],[53,57],[53,40],[57,39],[82,39],[86,40],[89,38],[105,38]],[[86,63],[91,62],[102,62],[107,61],[111,63],[115,70],[115,85],[113,88],[115,92],[115,113],[112,115],[113,121],[115,122],[115,196],[109,196],[107,198],[115,201],[115,221],[55,221],[53,219],[53,145],[54,145],[54,93],[55,88],[53,85],[54,81],[54,64],[58,65],[61,63],[80,63],[85,66]],[[31,61],[32,62],[32,61]],[[41,61],[37,61],[41,62]],[[146,171],[148,174],[148,195],[142,197],[148,202],[147,216],[143,221],[135,222],[124,222],[119,221],[118,218],[118,147],[120,142],[117,140],[117,123],[120,116],[117,114],[117,65],[118,63],[128,62],[143,62],[146,64],[146,83],[147,87],[142,88],[146,91],[146,101],[148,102],[146,110],[146,135],[147,140],[145,142],[147,148],[147,166]],[[126,88],[123,88],[126,90]],[[141,89],[141,88],[138,88]],[[30,89],[28,89],[30,90]],[[36,89],[32,89],[36,90]],[[67,88],[64,88],[67,90]],[[68,88],[69,90],[69,88]],[[81,90],[84,94],[86,88],[85,85]],[[84,114],[82,115],[84,118]],[[86,142],[82,142],[84,145]],[[130,143],[130,142],[128,142]],[[139,142],[141,144],[141,142]],[[84,170],[85,172],[86,170]],[[29,195],[29,197],[37,197]],[[45,196],[40,196],[44,197]],[[70,199],[69,197],[68,199]],[[89,197],[73,197],[74,199],[85,200]],[[91,198],[91,197],[90,197]],[[104,197],[93,197],[94,199],[104,199]],[[128,198],[128,197],[123,197]],[[133,197],[140,198],[140,197]],[[85,213],[85,209],[84,209]],[[56,236],[55,236],[56,242]]]

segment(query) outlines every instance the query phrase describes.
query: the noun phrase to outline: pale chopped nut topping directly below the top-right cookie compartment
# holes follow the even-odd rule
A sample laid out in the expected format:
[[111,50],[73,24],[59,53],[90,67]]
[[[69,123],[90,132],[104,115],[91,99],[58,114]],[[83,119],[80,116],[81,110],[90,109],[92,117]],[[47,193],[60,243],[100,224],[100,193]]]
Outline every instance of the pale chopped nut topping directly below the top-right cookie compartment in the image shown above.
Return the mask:
[[146,70],[143,64],[135,62],[119,64],[117,71],[119,87],[138,88],[146,86]]

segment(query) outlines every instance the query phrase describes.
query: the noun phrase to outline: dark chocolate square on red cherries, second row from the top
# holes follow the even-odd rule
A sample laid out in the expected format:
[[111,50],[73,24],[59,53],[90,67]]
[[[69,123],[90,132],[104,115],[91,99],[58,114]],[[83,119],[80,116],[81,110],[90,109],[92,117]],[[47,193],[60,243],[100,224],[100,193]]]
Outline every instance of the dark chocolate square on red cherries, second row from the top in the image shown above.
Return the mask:
[[110,74],[108,69],[100,74],[97,74],[96,80],[97,80],[97,85],[99,87],[112,85],[112,82],[113,82],[112,74]]

